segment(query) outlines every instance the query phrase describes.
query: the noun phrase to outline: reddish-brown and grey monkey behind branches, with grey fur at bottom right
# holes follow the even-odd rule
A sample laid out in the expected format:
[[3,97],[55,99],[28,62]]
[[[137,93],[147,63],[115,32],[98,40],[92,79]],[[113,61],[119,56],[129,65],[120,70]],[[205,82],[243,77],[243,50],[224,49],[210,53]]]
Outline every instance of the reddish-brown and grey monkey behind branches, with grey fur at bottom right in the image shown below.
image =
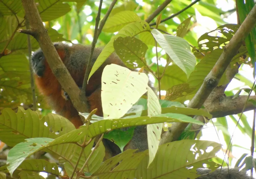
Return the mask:
[[[70,46],[65,43],[54,43],[54,47],[64,65],[67,67],[68,72],[76,82],[77,86],[81,89],[84,82],[84,74],[91,47],[80,44],[73,44]],[[91,64],[89,64],[90,71],[101,51],[101,48],[94,49],[92,61]],[[101,105],[101,75],[104,67],[110,64],[126,67],[124,62],[116,54],[112,53],[89,79],[85,89],[90,111],[97,108],[98,110],[95,114],[101,117],[103,117]],[[79,128],[81,125],[83,125],[83,122],[81,121],[76,108],[73,106],[71,100],[68,98],[67,93],[62,89],[57,78],[52,73],[41,48],[32,54],[31,65],[34,71],[36,86],[39,92],[44,95],[47,103],[52,106],[52,109],[57,114],[60,114],[61,116],[64,116],[70,120],[76,128]],[[129,69],[136,71],[131,68]],[[148,85],[155,91],[150,81],[148,82]],[[110,148],[112,147],[114,151],[112,151],[112,153],[114,155],[121,153],[119,147],[113,142],[106,139],[103,141],[103,144],[108,145]],[[124,147],[124,150],[138,148],[139,152],[148,149],[146,126],[138,126],[135,128],[132,140]],[[199,168],[197,169],[197,172],[198,174],[202,174],[198,177],[198,179],[252,179],[246,175],[245,172],[238,173],[236,168],[229,170],[227,168],[222,168],[221,173],[219,169],[209,173],[209,169]]]

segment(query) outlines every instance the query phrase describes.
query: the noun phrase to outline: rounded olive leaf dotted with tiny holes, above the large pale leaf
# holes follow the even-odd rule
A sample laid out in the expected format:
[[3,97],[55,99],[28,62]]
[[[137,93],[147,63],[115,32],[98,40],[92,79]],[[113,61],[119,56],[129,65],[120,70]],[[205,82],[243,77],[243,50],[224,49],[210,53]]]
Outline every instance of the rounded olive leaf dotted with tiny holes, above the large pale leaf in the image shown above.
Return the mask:
[[114,41],[114,48],[128,68],[141,68],[147,64],[145,54],[148,46],[135,37],[118,37]]

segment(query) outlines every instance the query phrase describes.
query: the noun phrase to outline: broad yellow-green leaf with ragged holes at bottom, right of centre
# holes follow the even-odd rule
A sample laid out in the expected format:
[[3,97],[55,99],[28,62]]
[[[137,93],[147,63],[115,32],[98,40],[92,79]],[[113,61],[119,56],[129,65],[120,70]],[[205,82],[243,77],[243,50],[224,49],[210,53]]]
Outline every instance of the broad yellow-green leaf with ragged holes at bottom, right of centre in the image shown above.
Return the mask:
[[[219,167],[209,159],[215,157],[220,148],[221,144],[200,140],[181,140],[160,145],[148,168],[148,156],[140,162],[135,178],[194,179],[199,176],[196,169],[203,168],[203,164],[208,164],[212,170]],[[194,167],[188,169],[191,166]]]

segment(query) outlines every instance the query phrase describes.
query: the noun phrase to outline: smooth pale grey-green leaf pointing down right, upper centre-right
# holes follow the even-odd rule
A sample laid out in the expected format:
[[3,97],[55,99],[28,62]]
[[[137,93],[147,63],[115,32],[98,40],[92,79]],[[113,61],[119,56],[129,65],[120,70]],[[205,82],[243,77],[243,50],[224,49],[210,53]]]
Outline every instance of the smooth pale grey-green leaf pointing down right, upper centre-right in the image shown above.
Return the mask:
[[196,58],[191,53],[188,42],[177,36],[164,35],[156,29],[153,29],[151,33],[174,63],[178,65],[188,77],[196,66]]

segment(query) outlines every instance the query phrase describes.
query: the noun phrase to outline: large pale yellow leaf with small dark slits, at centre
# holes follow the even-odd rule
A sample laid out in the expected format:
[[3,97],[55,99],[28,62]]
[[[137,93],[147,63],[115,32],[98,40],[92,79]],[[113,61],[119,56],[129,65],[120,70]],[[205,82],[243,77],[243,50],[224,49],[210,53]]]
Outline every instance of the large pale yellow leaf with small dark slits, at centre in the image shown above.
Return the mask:
[[107,65],[101,79],[101,101],[104,119],[122,117],[147,92],[148,76],[128,68]]

